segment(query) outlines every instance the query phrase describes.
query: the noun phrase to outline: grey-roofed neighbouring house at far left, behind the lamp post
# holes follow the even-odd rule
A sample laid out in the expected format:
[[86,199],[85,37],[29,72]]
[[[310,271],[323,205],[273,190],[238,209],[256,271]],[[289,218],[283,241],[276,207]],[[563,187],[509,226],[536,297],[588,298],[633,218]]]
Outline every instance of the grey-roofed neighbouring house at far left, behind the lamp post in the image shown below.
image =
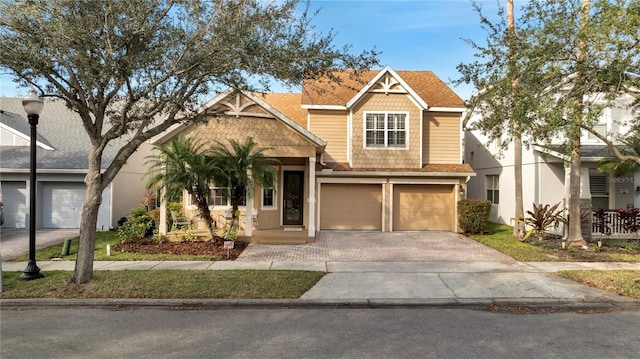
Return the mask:
[[[4,204],[2,228],[25,228],[29,214],[30,126],[21,98],[0,98],[0,193]],[[103,169],[117,148],[106,151]],[[77,113],[62,101],[45,100],[38,123],[37,216],[38,228],[79,228],[85,196],[89,138]],[[146,192],[144,144],[104,190],[98,230],[117,225],[120,217],[141,205]]]

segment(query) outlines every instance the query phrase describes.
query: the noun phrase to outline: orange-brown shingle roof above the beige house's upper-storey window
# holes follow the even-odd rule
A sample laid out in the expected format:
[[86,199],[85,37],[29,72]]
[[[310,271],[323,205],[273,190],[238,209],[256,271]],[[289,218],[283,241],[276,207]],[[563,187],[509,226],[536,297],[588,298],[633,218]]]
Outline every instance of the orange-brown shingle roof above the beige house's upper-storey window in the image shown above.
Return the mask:
[[356,77],[355,71],[335,71],[340,83],[327,78],[307,80],[302,87],[302,104],[307,106],[347,107],[363,89],[368,89],[372,81],[389,73],[399,77],[418,98],[429,107],[464,108],[465,103],[449,86],[431,71],[394,71],[386,67],[379,71],[364,71]]

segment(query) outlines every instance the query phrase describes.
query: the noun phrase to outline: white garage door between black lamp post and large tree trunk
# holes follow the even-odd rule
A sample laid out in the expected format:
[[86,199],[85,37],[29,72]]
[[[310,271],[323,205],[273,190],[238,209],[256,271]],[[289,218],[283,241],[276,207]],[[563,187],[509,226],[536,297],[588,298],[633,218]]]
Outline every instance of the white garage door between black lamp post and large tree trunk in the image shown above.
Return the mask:
[[42,186],[42,228],[80,228],[84,183],[46,182]]

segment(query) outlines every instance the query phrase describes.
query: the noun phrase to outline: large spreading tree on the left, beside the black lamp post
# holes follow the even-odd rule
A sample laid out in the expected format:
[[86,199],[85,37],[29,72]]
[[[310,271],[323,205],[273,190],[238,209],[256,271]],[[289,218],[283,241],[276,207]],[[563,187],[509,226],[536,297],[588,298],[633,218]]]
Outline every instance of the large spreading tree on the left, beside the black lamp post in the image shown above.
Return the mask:
[[[316,31],[298,0],[0,0],[0,68],[76,111],[90,138],[73,279],[93,275],[102,190],[145,141],[221,88],[267,91],[377,64]],[[257,84],[256,84],[257,83]],[[118,153],[103,168],[103,153]]]

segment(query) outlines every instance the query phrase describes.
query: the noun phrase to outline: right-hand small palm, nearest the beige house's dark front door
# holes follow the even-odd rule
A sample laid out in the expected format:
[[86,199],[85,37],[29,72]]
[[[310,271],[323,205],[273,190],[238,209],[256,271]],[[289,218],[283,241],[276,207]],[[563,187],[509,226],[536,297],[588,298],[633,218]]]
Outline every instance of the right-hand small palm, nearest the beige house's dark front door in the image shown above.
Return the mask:
[[232,219],[226,238],[230,236],[239,217],[238,206],[242,195],[246,193],[246,198],[253,197],[253,183],[258,183],[263,188],[275,186],[277,173],[273,166],[279,164],[279,161],[267,156],[265,152],[268,150],[269,148],[257,147],[253,138],[248,137],[244,143],[229,140],[229,147],[217,142],[209,151],[216,167],[222,169],[215,182],[218,185],[227,184],[228,191],[225,195],[231,199]]

